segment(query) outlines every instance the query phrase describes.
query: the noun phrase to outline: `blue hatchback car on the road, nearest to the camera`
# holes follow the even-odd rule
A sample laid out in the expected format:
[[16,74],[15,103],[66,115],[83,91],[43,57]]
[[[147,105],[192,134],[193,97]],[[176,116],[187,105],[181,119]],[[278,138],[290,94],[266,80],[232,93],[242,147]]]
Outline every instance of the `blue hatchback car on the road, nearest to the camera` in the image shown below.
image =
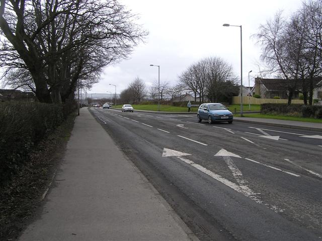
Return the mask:
[[220,103],[207,103],[199,106],[197,114],[198,122],[208,120],[208,123],[227,121],[232,123],[232,113]]

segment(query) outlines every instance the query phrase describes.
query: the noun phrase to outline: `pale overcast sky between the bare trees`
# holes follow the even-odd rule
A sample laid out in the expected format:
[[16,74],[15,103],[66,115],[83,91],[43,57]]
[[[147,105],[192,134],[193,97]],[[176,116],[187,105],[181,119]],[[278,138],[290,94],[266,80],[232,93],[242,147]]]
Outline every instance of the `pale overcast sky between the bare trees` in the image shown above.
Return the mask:
[[130,58],[107,66],[101,81],[88,93],[120,93],[135,77],[146,86],[157,82],[160,65],[160,83],[175,85],[190,64],[218,56],[231,63],[240,78],[240,28],[223,27],[224,23],[243,26],[243,85],[251,86],[258,76],[260,47],[251,35],[260,24],[273,18],[279,10],[287,17],[301,7],[300,0],[120,0],[128,10],[138,14],[139,24],[149,31],[145,43],[135,47]]

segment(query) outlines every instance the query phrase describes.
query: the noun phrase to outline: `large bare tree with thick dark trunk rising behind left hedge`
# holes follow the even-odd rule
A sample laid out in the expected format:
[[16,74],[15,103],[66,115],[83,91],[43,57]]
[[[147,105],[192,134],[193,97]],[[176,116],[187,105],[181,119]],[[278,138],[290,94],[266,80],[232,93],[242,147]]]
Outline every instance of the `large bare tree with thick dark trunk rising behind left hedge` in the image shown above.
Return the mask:
[[0,45],[0,66],[5,75],[27,69],[41,102],[71,98],[79,79],[90,87],[147,34],[116,0],[10,0],[0,10],[8,40]]

